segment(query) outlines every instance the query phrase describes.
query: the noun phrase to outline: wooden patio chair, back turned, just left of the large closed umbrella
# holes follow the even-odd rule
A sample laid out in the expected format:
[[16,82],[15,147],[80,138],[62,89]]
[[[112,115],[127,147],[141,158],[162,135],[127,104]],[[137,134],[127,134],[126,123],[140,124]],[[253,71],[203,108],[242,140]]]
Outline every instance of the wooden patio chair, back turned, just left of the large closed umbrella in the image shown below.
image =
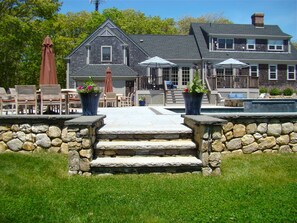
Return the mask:
[[[35,85],[15,85],[16,90],[16,113],[19,113],[19,106],[25,107],[25,112],[28,114],[29,108],[35,108],[37,115],[37,94]],[[30,111],[29,111],[30,112]]]

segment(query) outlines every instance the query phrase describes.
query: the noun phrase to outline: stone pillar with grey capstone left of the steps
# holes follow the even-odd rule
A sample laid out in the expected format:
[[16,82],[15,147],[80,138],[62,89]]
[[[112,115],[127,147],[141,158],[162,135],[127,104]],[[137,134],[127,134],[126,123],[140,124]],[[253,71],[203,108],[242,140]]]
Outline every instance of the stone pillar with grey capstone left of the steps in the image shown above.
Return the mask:
[[104,124],[105,116],[81,116],[65,122],[68,138],[68,173],[91,175],[91,162],[96,143],[97,129]]

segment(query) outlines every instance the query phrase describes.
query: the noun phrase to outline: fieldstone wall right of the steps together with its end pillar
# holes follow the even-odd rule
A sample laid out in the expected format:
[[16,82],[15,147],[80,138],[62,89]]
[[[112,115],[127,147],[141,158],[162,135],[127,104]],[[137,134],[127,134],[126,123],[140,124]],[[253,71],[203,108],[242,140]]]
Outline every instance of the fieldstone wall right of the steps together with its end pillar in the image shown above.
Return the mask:
[[203,175],[221,174],[221,156],[297,153],[296,114],[184,116],[202,160]]

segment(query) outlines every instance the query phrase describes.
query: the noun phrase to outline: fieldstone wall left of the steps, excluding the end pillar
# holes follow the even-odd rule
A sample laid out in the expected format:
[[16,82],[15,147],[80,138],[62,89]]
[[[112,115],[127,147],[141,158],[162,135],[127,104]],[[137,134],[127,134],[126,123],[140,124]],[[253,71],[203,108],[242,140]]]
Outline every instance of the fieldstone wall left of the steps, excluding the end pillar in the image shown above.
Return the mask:
[[71,140],[64,122],[75,116],[1,116],[0,152],[49,151],[68,153]]

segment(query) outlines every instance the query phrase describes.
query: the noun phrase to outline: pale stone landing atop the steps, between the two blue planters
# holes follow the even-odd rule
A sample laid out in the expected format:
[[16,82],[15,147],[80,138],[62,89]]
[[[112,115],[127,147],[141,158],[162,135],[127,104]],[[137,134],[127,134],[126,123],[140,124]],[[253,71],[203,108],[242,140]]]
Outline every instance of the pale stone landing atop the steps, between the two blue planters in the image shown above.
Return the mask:
[[115,132],[189,132],[181,114],[163,107],[99,108],[98,114],[106,115],[106,124],[100,131]]

